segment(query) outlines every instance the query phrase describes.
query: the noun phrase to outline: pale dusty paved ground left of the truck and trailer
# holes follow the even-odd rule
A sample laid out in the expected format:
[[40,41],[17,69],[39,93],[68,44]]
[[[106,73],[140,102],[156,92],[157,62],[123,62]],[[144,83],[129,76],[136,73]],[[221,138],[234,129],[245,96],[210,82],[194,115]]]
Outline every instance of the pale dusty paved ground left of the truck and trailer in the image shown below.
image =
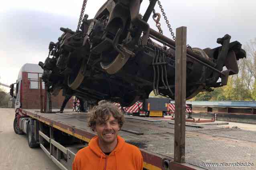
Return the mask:
[[29,148],[25,135],[13,130],[14,109],[0,108],[0,169],[60,170],[41,148]]

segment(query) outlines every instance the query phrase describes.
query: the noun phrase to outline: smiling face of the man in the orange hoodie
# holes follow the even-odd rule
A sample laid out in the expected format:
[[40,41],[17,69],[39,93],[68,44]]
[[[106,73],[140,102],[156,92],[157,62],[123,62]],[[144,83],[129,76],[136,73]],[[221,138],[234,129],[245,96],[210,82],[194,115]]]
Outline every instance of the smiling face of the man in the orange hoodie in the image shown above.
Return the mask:
[[106,117],[105,121],[97,121],[96,126],[93,128],[97,132],[99,141],[102,144],[112,144],[117,142],[118,130],[120,127],[118,125],[118,120],[113,117],[112,113],[109,117]]

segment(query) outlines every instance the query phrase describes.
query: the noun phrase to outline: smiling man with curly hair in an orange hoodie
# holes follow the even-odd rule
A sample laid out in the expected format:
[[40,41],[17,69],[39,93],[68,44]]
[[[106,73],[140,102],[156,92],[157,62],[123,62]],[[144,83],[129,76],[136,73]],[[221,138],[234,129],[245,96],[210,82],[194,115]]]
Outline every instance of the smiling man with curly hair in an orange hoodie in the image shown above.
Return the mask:
[[113,103],[98,104],[90,111],[88,119],[88,127],[97,136],[77,152],[72,170],[142,170],[140,150],[118,135],[124,115]]

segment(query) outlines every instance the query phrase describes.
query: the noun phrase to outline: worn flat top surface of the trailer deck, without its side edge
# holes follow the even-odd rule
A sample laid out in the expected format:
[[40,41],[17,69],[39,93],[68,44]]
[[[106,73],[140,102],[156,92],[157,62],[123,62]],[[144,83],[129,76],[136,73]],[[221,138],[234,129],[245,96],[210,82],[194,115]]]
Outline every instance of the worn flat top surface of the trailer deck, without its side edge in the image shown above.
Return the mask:
[[[38,113],[29,110],[41,118],[65,124],[66,129],[77,128],[86,134],[95,135],[87,127],[87,113],[66,112],[63,114]],[[126,119],[124,128],[143,132],[144,135],[136,135],[130,132],[120,131],[126,142],[134,144],[152,155],[173,159],[174,157],[174,125],[171,121],[148,122],[136,119]],[[236,163],[250,162],[256,165],[256,132],[226,129],[214,126],[195,126],[186,123],[185,162],[200,167],[204,163]],[[189,126],[188,126],[189,125]],[[87,135],[88,136],[88,135]],[[239,140],[239,141],[238,141]],[[245,141],[246,140],[246,141]],[[150,154],[149,154],[150,155]],[[158,162],[159,163],[159,162]],[[216,167],[202,166],[209,170],[226,169],[255,169],[255,167]]]

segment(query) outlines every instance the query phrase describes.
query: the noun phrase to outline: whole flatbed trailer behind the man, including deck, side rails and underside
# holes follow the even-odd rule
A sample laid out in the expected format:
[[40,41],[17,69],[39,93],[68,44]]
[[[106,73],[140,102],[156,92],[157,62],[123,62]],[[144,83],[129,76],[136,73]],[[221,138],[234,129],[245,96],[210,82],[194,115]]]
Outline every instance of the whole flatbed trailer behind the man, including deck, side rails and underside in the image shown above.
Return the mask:
[[[56,110],[57,111],[57,110]],[[71,170],[76,152],[96,134],[87,127],[87,113],[40,113],[18,109],[31,123],[26,128],[38,146],[63,170]],[[20,119],[22,120],[22,119]],[[174,121],[125,116],[119,135],[138,146],[148,170],[255,169],[256,132],[186,123],[185,162],[174,162]],[[33,131],[33,132],[30,132]],[[30,137],[29,137],[30,136]],[[33,141],[33,140],[32,140]],[[124,160],[125,161],[125,160]]]

